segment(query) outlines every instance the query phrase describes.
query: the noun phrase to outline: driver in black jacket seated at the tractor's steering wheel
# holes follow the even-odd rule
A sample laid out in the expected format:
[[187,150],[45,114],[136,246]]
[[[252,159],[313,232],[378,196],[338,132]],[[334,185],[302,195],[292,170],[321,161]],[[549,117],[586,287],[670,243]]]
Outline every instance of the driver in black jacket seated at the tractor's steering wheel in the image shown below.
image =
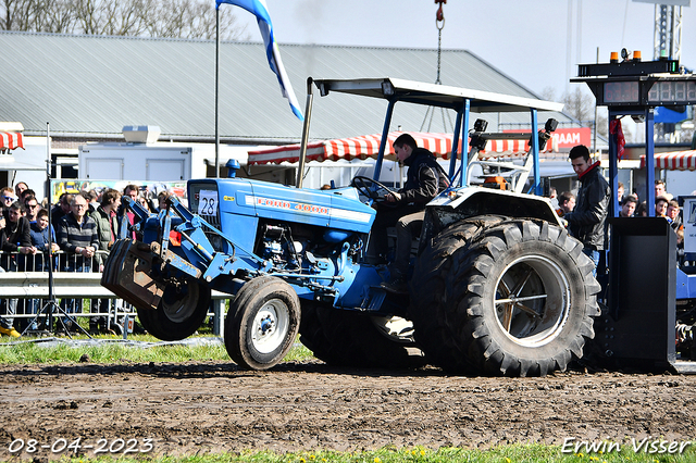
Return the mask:
[[411,239],[421,233],[424,209],[433,198],[445,190],[449,180],[437,164],[432,152],[419,148],[409,134],[400,135],[394,141],[394,151],[400,163],[409,167],[406,185],[398,191],[385,197],[393,208],[382,208],[373,226],[373,236],[377,240],[377,249],[386,252],[386,227],[396,224],[396,249],[390,268],[390,279],[382,284],[391,292],[408,292],[406,272],[411,256]]

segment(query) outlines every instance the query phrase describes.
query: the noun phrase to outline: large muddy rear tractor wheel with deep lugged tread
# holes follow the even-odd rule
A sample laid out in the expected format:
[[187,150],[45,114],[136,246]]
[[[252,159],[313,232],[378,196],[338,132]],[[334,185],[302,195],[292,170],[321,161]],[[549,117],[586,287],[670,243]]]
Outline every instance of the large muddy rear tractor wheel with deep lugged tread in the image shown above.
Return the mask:
[[435,237],[411,280],[409,315],[428,359],[451,373],[544,376],[594,337],[600,287],[567,230],[477,217]]

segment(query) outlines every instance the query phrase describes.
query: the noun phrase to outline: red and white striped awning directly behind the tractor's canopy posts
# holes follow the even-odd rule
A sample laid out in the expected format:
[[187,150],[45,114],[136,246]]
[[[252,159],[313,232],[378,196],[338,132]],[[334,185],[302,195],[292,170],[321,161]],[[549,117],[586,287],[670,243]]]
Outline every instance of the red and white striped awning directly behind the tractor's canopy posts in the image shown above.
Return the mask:
[[[390,132],[386,159],[394,160],[394,140],[403,132]],[[409,132],[419,147],[430,150],[437,158],[448,160],[452,152],[452,135]],[[307,145],[307,161],[338,161],[368,158],[375,159],[380,151],[382,134],[363,135],[352,138],[339,138],[333,140],[316,141]],[[525,140],[490,140],[486,145],[486,151],[482,151],[480,158],[496,158],[500,155],[522,155],[529,151],[529,141]],[[545,151],[551,150],[551,143]],[[461,142],[458,149],[461,153]],[[279,164],[282,162],[298,162],[300,159],[299,145],[286,145],[264,150],[249,151],[249,164]]]

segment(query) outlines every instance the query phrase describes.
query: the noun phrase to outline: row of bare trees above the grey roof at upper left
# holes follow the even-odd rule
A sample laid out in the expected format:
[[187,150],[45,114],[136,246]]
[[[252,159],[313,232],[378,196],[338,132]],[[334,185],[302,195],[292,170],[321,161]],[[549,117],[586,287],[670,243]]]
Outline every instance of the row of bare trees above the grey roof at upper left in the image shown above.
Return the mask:
[[[232,8],[220,10],[220,37],[248,39]],[[210,0],[0,0],[0,29],[132,37],[215,37]]]

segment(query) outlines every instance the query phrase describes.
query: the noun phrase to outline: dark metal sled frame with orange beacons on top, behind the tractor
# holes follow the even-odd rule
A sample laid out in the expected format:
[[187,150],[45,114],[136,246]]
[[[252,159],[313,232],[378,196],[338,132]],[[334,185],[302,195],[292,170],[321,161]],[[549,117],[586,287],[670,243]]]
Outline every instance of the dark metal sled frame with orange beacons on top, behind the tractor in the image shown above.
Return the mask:
[[[655,203],[655,108],[669,105],[649,96],[660,82],[693,83],[694,75],[674,75],[679,63],[669,61],[580,64],[579,78],[595,95],[597,105],[609,109],[608,124],[630,115],[645,122],[646,201]],[[672,73],[672,74],[667,74]],[[633,88],[633,93],[609,93],[608,89]],[[658,96],[661,98],[661,95]],[[624,101],[617,101],[624,100]],[[674,104],[696,104],[679,101]],[[696,275],[686,275],[676,266],[676,237],[662,218],[655,217],[648,208],[648,217],[619,217],[617,188],[619,185],[618,137],[609,132],[609,184],[613,200],[609,209],[608,268],[604,279],[608,311],[595,323],[598,342],[606,354],[619,363],[652,363],[666,365],[682,374],[696,374],[696,361],[678,360],[674,349],[676,286],[696,288]],[[630,222],[630,227],[625,221]],[[599,279],[599,278],[598,278]],[[602,281],[600,281],[602,283]],[[649,295],[645,288],[650,288]],[[633,295],[633,296],[632,296]],[[635,297],[641,295],[641,297]],[[696,299],[696,293],[680,291],[680,299]]]

